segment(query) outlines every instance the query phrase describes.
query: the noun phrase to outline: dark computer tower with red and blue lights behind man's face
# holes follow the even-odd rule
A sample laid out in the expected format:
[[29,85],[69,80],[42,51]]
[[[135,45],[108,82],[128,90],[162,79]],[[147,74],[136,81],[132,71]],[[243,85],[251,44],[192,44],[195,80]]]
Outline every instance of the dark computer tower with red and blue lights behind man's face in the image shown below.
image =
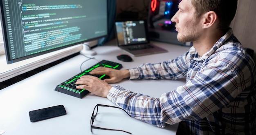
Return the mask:
[[175,23],[171,18],[178,11],[181,0],[150,0],[148,11],[148,32],[150,40],[191,46],[191,42],[179,42]]

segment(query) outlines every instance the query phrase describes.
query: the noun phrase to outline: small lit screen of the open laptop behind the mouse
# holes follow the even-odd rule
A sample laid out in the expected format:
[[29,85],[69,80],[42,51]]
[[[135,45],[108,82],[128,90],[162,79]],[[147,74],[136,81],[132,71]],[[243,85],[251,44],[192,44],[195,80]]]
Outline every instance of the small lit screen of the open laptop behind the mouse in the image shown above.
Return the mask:
[[146,20],[115,21],[118,46],[149,43]]

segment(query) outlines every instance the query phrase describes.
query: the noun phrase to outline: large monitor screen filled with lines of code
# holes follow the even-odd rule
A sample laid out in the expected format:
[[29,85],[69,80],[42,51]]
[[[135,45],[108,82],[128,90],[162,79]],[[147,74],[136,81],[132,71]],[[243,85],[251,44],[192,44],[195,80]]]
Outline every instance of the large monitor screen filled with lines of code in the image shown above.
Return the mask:
[[7,64],[102,38],[107,0],[0,0]]

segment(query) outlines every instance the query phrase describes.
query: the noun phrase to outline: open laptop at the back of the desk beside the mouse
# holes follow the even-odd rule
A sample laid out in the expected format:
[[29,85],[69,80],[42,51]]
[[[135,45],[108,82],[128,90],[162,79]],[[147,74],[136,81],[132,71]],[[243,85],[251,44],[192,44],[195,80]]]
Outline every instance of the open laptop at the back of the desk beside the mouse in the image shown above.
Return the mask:
[[115,35],[118,47],[135,57],[167,52],[150,44],[146,20],[116,20]]

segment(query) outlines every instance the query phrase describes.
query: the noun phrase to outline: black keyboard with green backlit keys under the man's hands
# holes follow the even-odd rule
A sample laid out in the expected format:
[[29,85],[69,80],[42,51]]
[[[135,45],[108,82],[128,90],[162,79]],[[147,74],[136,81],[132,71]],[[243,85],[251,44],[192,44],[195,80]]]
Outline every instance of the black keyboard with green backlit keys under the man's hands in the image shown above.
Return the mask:
[[[82,98],[83,96],[88,94],[89,91],[87,91],[85,89],[76,89],[76,84],[75,84],[76,80],[78,80],[83,75],[91,75],[91,74],[89,74],[89,72],[92,71],[93,69],[99,67],[99,66],[109,67],[109,68],[112,68],[112,69],[121,69],[123,67],[121,64],[119,64],[117,62],[102,60],[101,62],[98,62],[94,66],[91,66],[90,68],[86,69],[85,71],[83,71],[83,72],[75,75],[74,77],[71,77],[70,79],[66,80],[65,82],[57,85],[56,88],[55,88],[55,91],[59,91],[61,93],[72,95],[74,97]],[[105,75],[105,74],[104,75],[92,75],[92,76],[96,76],[101,80],[109,78],[109,76]]]

